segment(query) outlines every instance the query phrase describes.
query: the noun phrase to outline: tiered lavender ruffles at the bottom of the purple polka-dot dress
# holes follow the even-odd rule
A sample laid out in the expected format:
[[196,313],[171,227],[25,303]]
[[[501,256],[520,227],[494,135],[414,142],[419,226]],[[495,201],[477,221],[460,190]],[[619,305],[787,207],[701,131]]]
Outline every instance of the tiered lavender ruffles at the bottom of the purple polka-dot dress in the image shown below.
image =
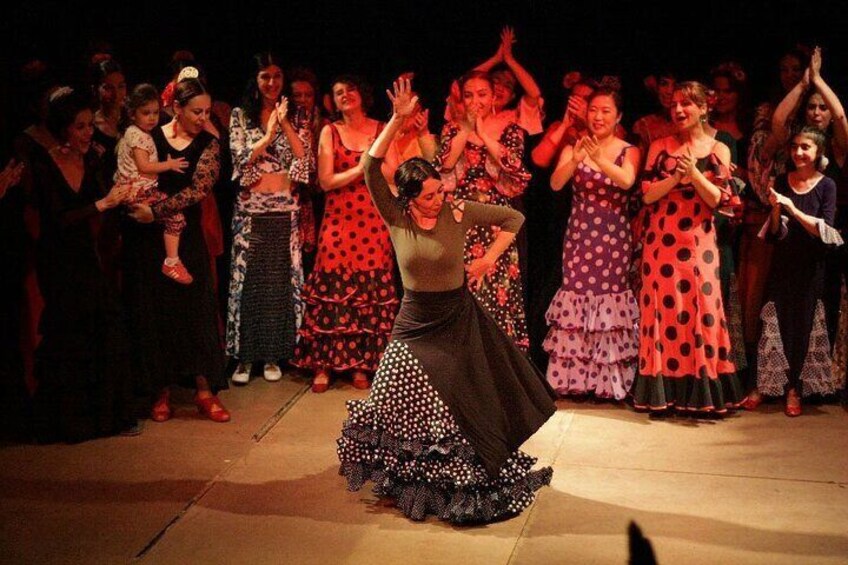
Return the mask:
[[631,291],[578,294],[560,289],[545,315],[547,377],[561,395],[627,396],[636,369],[639,308]]

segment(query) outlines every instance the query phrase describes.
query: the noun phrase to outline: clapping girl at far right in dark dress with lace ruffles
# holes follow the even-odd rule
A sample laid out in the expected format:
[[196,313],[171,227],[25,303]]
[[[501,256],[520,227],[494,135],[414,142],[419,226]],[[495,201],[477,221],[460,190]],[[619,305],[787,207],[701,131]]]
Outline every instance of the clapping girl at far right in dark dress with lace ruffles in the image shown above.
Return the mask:
[[806,126],[789,142],[788,173],[769,188],[771,215],[761,237],[774,245],[760,319],[757,389],[743,406],[762,396],[785,396],[787,416],[801,415],[801,397],[832,394],[830,341],[823,303],[827,247],[840,245],[833,228],[836,183],[823,174],[827,140]]

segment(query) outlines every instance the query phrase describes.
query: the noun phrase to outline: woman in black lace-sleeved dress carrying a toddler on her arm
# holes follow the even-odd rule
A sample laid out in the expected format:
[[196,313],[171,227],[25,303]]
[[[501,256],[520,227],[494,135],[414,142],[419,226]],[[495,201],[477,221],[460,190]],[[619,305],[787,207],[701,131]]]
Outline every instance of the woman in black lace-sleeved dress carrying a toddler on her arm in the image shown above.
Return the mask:
[[[227,388],[218,338],[218,317],[206,243],[200,224],[200,203],[218,178],[219,146],[205,129],[212,101],[194,78],[175,88],[174,119],[151,132],[159,159],[182,158],[182,172],[159,175],[159,190],[168,197],[153,205],[136,206],[135,222],[124,229],[124,295],[133,338],[134,365],[143,379],[140,389],[154,400],[150,416],[163,422],[172,415],[170,387],[197,389],[198,410],[216,422],[229,413],[215,393]],[[181,285],[161,275],[165,250],[163,220],[185,216],[180,256],[194,277]]]

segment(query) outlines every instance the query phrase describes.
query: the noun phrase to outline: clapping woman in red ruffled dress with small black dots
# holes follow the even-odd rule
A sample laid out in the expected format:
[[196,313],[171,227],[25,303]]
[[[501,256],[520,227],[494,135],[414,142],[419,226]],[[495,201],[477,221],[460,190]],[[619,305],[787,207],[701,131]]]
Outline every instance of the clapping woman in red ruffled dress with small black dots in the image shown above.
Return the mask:
[[368,197],[361,160],[383,124],[367,116],[373,100],[360,78],[335,79],[332,93],[341,119],[321,130],[324,220],[293,360],[313,371],[313,392],[327,390],[330,371],[350,371],[354,386],[368,388],[397,310],[389,233]]

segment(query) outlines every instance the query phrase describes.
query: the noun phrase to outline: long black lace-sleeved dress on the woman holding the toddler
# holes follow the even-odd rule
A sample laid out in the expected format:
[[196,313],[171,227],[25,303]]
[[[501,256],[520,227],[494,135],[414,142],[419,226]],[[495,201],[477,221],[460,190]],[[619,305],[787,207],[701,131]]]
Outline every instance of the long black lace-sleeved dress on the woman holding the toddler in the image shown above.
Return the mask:
[[185,171],[159,175],[159,190],[169,197],[153,206],[156,218],[182,212],[186,228],[180,238],[180,259],[194,277],[181,285],[161,272],[165,259],[163,224],[155,221],[124,226],[124,298],[133,345],[133,363],[146,377],[140,394],[151,400],[162,388],[196,386],[206,377],[213,393],[227,388],[224,357],[209,254],[200,223],[200,202],[212,190],[219,173],[219,145],[201,132],[187,147],[176,150],[162,128],[151,132],[159,159],[183,157]]

